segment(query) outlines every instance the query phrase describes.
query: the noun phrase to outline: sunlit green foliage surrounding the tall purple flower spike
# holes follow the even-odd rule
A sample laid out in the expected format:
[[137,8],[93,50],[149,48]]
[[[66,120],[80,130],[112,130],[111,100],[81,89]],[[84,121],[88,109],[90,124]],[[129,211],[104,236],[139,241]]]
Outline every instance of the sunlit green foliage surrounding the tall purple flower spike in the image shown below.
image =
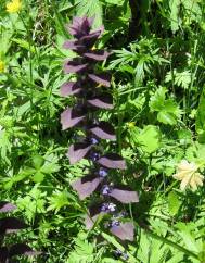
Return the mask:
[[[0,5],[0,195],[30,225],[24,235],[42,251],[35,262],[124,262],[115,249],[129,255],[126,262],[205,262],[204,187],[181,191],[172,177],[181,160],[204,175],[204,0],[137,1],[137,14],[128,0],[30,0],[18,14],[5,11],[8,2]],[[112,72],[115,109],[100,118],[115,126],[112,148],[127,161],[121,180],[112,174],[113,180],[139,191],[140,202],[126,206],[136,224],[132,243],[98,224],[86,233],[87,200],[71,188],[89,168],[88,160],[69,165],[74,134],[60,124],[75,102],[60,97],[61,85],[73,80],[62,65],[75,53],[62,45],[74,15],[95,16],[94,28],[104,24],[97,48],[112,51],[102,67]]]

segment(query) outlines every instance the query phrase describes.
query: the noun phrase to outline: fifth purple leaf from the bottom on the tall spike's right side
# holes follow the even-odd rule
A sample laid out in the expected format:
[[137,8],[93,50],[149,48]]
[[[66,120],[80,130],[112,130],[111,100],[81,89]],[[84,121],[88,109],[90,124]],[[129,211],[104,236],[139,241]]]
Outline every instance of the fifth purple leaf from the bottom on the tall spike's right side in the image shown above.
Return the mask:
[[90,99],[88,100],[88,102],[95,107],[95,108],[100,108],[100,109],[113,109],[113,98],[111,95],[101,95],[97,98]]

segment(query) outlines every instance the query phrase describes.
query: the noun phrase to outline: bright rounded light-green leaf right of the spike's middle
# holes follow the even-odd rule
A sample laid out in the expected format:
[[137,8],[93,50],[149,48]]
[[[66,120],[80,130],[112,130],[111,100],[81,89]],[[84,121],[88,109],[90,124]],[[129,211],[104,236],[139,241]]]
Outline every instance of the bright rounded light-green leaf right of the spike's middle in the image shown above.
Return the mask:
[[161,132],[154,125],[148,125],[137,137],[143,151],[152,153],[159,148]]

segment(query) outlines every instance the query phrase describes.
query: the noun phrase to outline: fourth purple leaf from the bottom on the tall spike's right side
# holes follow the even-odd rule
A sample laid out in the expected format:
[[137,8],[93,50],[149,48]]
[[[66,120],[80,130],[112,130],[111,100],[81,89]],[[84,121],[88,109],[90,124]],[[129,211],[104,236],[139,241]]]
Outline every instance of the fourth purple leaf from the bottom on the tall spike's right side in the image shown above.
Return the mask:
[[90,129],[97,137],[105,140],[116,140],[115,129],[107,122],[100,122],[98,126]]

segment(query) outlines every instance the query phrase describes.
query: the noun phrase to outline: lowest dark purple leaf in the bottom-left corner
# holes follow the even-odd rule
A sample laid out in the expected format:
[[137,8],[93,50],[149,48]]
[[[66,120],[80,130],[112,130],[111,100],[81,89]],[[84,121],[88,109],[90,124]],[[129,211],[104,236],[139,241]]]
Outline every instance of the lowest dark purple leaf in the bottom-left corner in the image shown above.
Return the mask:
[[10,248],[10,252],[9,252],[10,258],[12,258],[14,255],[33,255],[34,256],[34,255],[39,255],[39,254],[41,254],[41,252],[34,251],[26,243],[16,243],[16,245],[13,245]]

